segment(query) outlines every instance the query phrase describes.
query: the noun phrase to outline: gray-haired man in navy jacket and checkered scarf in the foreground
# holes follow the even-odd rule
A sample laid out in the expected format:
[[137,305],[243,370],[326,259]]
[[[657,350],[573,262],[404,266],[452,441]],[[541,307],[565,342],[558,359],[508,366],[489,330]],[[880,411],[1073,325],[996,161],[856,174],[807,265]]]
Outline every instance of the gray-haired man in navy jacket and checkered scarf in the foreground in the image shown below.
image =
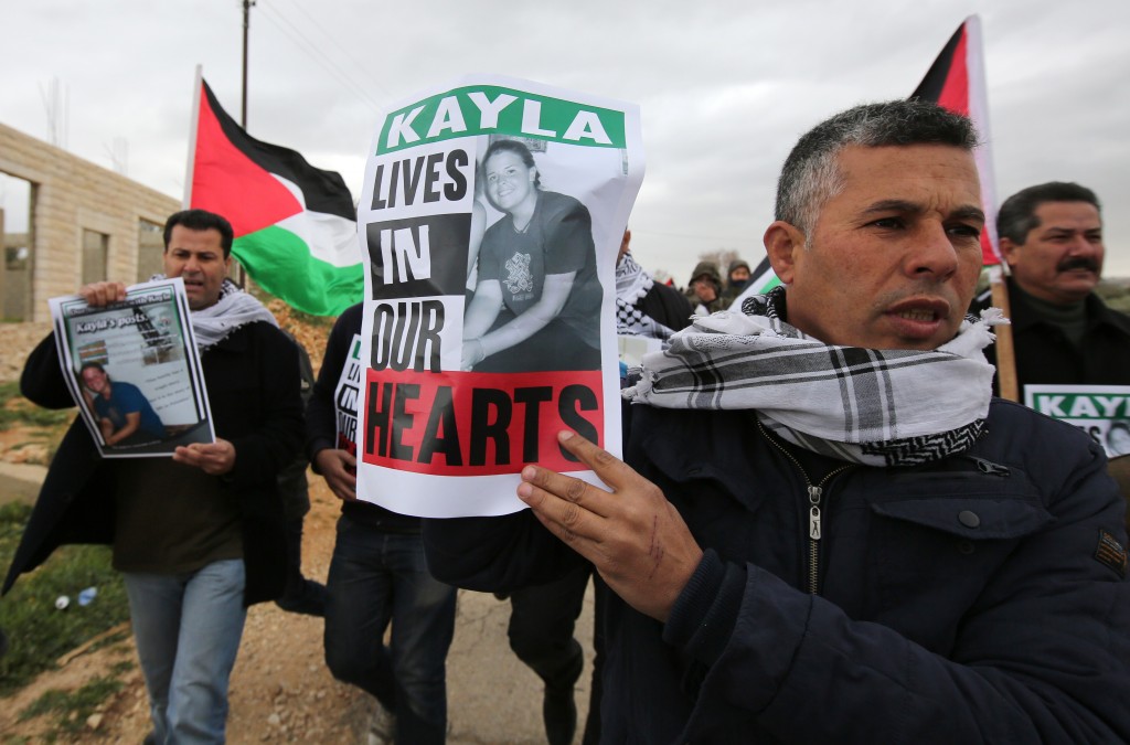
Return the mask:
[[626,391],[625,460],[562,447],[502,518],[426,520],[476,589],[584,558],[616,597],[605,743],[1130,739],[1123,506],[1080,431],[991,399],[965,319],[984,224],[963,116],[805,135],[765,233],[784,284],[697,319]]

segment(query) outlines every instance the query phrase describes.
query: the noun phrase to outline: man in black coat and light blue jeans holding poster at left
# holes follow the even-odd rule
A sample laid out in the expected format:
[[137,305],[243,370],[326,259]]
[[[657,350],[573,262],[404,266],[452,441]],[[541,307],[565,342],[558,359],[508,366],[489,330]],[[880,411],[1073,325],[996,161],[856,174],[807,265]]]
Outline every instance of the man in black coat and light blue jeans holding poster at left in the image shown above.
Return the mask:
[[[270,312],[228,278],[232,226],[193,209],[165,225],[165,275],[184,280],[216,442],[171,459],[106,460],[76,419],[52,461],[3,590],[64,543],[107,543],[125,580],[149,693],[146,743],[221,743],[227,686],[246,606],[285,583],[276,476],[297,453],[303,421],[297,350]],[[79,293],[125,300],[125,285]],[[20,391],[73,406],[49,336],[28,357]]]

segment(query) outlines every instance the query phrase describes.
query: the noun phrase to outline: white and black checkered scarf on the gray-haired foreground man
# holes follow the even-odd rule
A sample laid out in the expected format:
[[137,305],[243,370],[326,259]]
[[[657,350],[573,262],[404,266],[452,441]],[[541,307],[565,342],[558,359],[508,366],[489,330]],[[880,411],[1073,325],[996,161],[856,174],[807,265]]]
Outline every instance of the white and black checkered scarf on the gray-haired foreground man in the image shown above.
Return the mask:
[[[784,287],[741,312],[696,317],[664,352],[644,356],[633,402],[756,409],[762,424],[814,452],[869,466],[911,466],[968,449],[981,435],[993,367],[981,350],[1007,323],[966,317],[933,350],[828,345],[780,318]],[[631,373],[629,373],[631,375]]]

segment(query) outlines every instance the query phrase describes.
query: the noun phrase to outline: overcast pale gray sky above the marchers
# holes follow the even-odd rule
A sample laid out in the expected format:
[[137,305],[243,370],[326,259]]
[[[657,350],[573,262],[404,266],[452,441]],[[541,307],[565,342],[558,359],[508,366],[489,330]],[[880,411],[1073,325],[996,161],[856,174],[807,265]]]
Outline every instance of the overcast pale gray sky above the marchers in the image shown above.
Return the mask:
[[[1078,181],[1130,276],[1130,2],[258,0],[247,130],[339,171],[357,198],[381,112],[468,72],[640,104],[634,254],[685,284],[702,251],[751,263],[797,137],[909,95],[962,20],[985,45],[997,193]],[[240,118],[241,0],[3,0],[0,122],[183,197],[195,66]],[[0,176],[8,229],[26,208]]]

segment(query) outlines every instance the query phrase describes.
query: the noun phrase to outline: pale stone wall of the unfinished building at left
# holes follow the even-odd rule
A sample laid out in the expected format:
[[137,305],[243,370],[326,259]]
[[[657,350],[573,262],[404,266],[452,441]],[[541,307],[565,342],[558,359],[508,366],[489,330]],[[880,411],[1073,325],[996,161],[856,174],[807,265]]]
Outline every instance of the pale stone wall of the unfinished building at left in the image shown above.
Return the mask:
[[0,124],[0,171],[32,183],[32,261],[23,320],[49,321],[47,298],[82,279],[82,234],[110,236],[106,275],[138,275],[140,220],[164,225],[180,202],[66,150]]

